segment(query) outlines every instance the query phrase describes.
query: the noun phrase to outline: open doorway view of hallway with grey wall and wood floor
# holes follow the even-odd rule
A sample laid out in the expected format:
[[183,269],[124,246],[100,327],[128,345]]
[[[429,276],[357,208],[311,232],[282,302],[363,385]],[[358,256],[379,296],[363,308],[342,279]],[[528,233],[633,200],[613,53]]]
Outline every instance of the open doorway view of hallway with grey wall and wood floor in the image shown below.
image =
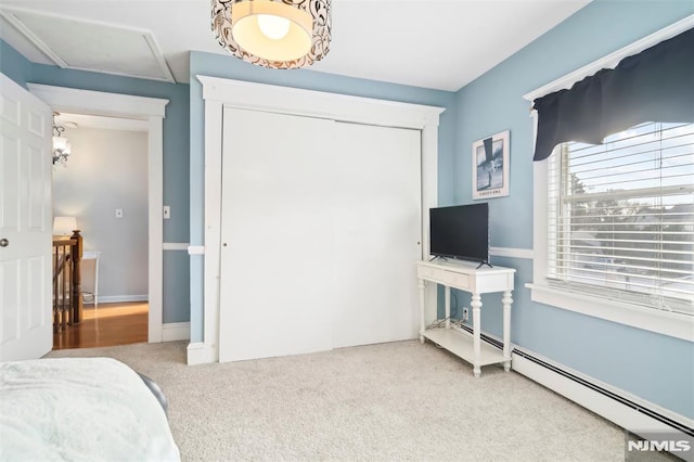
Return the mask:
[[53,215],[82,236],[83,312],[53,349],[147,342],[147,123],[55,113],[54,124],[72,154],[53,166]]

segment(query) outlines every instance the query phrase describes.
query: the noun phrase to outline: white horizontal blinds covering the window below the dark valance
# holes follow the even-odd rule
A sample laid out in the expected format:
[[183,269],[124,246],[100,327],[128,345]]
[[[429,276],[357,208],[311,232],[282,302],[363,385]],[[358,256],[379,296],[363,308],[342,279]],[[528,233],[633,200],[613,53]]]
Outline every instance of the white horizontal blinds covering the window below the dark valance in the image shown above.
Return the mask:
[[549,158],[548,279],[694,315],[694,124],[643,124]]

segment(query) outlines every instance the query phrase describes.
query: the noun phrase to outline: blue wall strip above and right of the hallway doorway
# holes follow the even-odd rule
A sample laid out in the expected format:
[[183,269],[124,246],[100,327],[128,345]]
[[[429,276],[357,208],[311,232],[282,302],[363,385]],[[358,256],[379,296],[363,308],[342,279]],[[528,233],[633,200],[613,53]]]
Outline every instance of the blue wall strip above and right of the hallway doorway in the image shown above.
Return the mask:
[[[0,70],[26,88],[27,82],[169,100],[164,119],[164,203],[171,219],[164,222],[164,242],[188,242],[189,234],[189,86],[143,80],[56,66],[33,64],[0,40]],[[179,256],[167,256],[175,252]],[[184,252],[167,251],[164,266],[164,322],[190,317],[189,265]]]

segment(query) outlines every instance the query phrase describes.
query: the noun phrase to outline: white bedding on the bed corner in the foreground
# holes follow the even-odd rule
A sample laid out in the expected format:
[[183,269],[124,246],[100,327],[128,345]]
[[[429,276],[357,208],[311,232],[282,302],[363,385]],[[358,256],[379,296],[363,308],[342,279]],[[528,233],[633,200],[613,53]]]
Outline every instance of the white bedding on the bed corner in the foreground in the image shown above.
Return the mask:
[[159,402],[111,358],[0,363],[1,461],[178,461]]

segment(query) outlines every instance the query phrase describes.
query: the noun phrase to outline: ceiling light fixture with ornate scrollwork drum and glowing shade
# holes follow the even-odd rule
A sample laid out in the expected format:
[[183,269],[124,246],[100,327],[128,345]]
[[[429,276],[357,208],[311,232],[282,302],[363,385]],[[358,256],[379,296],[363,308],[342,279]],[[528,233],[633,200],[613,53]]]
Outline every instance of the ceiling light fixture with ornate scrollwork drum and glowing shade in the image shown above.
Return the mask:
[[331,0],[211,0],[211,7],[219,44],[243,61],[292,69],[330,51]]

